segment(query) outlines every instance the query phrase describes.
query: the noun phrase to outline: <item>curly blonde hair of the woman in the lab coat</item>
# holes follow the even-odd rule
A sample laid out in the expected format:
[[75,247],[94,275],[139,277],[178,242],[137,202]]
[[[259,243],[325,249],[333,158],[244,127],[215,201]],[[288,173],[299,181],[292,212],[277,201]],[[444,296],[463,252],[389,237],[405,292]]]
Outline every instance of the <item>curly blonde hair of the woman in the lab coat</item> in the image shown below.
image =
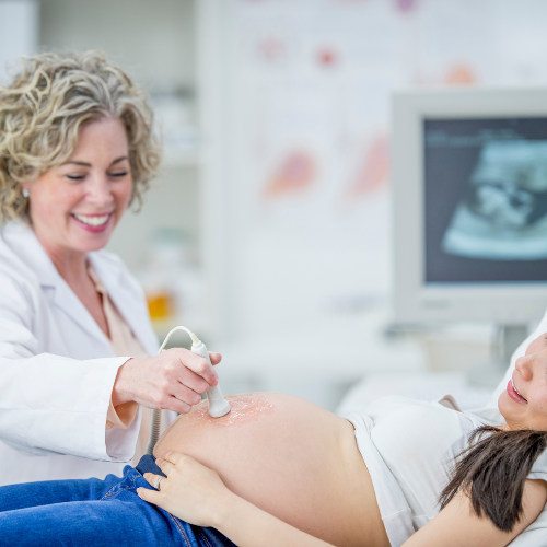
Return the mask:
[[102,51],[24,57],[21,72],[0,86],[0,221],[27,220],[21,183],[66,162],[83,124],[113,116],[127,132],[131,202],[140,205],[161,161],[144,91]]

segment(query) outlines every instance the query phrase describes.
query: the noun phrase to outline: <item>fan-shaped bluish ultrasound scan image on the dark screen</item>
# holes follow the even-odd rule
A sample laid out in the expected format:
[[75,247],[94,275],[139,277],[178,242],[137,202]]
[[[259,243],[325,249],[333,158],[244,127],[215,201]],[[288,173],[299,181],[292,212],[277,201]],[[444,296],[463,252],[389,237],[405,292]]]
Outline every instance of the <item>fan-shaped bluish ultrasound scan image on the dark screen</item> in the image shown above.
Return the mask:
[[547,258],[547,140],[484,142],[442,249],[486,260]]

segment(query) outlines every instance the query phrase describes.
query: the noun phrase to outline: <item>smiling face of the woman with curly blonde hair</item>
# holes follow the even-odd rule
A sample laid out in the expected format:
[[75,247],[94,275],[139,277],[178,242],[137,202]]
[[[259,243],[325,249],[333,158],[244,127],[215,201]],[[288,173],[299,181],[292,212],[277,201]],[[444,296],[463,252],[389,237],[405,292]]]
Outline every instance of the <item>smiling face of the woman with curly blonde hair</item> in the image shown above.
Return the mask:
[[104,118],[85,124],[67,162],[25,188],[33,229],[50,256],[103,248],[132,191],[121,121]]

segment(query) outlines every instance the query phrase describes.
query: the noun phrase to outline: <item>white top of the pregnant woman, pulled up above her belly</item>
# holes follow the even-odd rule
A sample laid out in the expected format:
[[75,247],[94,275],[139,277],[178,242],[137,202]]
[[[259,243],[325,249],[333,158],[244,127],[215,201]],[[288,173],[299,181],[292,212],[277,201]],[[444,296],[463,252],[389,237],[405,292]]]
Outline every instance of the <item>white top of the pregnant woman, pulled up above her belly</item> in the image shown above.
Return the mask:
[[[468,447],[470,432],[485,424],[499,426],[459,411],[452,397],[439,403],[383,397],[369,405],[365,414],[345,418],[356,429],[392,547],[401,545],[439,513],[439,496],[450,480],[454,458]],[[528,478],[547,481],[547,452]],[[544,526],[545,513],[540,515]],[[543,533],[546,539],[547,528]],[[513,544],[525,538],[523,533]]]

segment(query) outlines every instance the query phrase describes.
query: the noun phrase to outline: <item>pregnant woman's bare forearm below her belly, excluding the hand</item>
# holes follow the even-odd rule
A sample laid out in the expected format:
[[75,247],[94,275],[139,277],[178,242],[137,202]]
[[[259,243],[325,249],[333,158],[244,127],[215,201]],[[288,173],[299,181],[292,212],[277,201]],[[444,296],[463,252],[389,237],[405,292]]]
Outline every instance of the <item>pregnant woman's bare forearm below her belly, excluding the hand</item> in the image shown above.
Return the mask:
[[235,494],[225,503],[214,527],[238,547],[333,547]]

